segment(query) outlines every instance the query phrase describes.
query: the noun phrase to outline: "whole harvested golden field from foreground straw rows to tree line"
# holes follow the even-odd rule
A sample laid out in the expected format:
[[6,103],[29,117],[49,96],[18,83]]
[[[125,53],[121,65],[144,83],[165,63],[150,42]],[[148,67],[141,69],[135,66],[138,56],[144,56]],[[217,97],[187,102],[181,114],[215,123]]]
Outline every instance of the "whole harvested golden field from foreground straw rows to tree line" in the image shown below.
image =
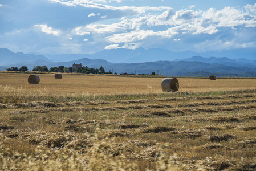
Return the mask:
[[255,170],[256,79],[0,73],[0,170]]

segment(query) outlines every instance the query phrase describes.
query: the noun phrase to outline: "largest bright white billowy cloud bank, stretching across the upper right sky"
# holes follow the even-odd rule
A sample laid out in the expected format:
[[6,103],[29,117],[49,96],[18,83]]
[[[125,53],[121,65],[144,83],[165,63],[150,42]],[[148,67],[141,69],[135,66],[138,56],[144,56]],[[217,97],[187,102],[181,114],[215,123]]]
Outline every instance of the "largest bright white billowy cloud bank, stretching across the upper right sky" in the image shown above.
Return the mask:
[[[232,12],[230,14],[230,12]],[[226,14],[227,13],[227,14]],[[235,17],[236,15],[240,17]],[[242,18],[243,13],[236,9],[225,8],[223,10],[209,9],[208,11],[193,11],[193,10],[179,10],[179,11],[163,11],[161,14],[144,14],[133,18],[121,18],[120,22],[104,25],[100,23],[90,24],[84,27],[80,27],[82,32],[91,32],[91,34],[102,35],[107,42],[111,43],[125,43],[123,48],[127,44],[131,43],[146,43],[147,40],[153,39],[169,39],[173,38],[177,34],[197,35],[197,34],[216,34],[221,31],[221,27],[227,26],[234,28],[237,23],[243,24],[246,22],[236,21],[224,25],[225,21],[235,21],[236,18]],[[252,20],[251,23],[254,21]],[[148,27],[165,26],[169,27],[164,31],[153,31]],[[181,39],[173,39],[174,42],[181,42]],[[143,44],[143,43],[141,43]],[[107,46],[107,48],[117,48],[115,46]],[[119,47],[120,48],[120,47]]]

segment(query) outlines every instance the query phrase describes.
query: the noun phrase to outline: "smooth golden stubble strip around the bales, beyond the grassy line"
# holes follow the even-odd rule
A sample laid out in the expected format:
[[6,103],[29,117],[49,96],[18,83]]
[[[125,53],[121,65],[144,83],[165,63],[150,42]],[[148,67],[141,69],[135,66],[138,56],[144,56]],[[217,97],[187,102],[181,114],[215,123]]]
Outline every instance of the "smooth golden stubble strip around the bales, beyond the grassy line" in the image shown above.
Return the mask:
[[[9,74],[0,72],[0,85],[10,85],[25,91],[42,91],[48,95],[115,95],[148,93],[148,86],[153,93],[162,93],[162,78],[137,78],[117,76],[92,76],[63,74],[62,79],[54,79],[54,74],[37,74],[39,84],[29,84],[31,74]],[[256,79],[190,79],[180,78],[179,92],[210,92],[255,89]]]

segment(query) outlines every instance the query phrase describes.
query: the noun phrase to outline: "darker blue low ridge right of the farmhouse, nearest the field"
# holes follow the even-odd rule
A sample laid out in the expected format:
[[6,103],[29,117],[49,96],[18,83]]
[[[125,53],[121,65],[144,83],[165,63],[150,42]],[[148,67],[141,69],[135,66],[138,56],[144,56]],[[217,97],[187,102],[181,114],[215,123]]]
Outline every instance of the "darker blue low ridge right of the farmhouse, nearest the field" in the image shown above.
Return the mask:
[[[189,72],[205,71],[205,72],[218,72],[218,73],[230,73],[230,74],[239,74],[241,72],[253,72],[256,71],[256,66],[254,67],[234,67],[234,66],[225,66],[224,64],[209,64],[202,62],[186,62],[186,61],[157,61],[157,62],[146,62],[146,63],[131,63],[131,64],[122,64],[118,67],[112,67],[113,64],[105,66],[106,70],[111,70],[114,68],[114,72],[126,72],[128,69],[128,74],[143,73],[151,74],[151,72],[158,71],[158,74],[162,75],[173,75],[181,76]],[[196,75],[195,75],[196,76]],[[256,75],[255,75],[256,76]]]

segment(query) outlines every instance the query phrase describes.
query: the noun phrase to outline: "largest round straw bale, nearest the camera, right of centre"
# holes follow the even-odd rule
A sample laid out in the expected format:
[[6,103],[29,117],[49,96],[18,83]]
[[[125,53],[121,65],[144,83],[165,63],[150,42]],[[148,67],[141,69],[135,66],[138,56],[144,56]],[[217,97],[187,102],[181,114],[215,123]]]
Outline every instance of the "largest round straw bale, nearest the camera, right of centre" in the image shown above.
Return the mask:
[[176,92],[180,85],[176,78],[164,78],[162,79],[162,91],[164,92]]

